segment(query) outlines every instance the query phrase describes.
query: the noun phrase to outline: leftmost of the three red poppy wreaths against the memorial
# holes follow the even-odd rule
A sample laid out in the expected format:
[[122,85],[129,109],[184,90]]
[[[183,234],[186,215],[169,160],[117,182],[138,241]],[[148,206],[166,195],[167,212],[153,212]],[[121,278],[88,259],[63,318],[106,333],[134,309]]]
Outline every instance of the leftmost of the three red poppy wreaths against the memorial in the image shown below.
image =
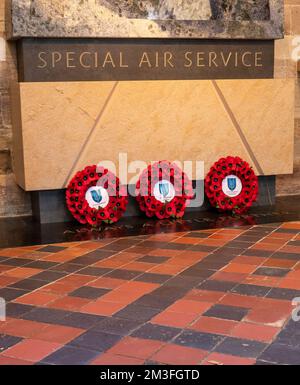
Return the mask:
[[78,222],[98,226],[117,222],[126,210],[128,197],[119,178],[106,168],[94,165],[73,177],[66,202]]

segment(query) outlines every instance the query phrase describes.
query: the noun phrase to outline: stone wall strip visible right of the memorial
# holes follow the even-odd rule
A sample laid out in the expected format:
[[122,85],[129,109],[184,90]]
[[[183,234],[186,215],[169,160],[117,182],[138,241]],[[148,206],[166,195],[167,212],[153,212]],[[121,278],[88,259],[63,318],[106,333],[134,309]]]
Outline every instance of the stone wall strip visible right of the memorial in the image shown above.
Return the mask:
[[[300,35],[300,0],[285,0],[285,34]],[[296,85],[294,173],[277,177],[277,195],[300,194],[300,62]]]

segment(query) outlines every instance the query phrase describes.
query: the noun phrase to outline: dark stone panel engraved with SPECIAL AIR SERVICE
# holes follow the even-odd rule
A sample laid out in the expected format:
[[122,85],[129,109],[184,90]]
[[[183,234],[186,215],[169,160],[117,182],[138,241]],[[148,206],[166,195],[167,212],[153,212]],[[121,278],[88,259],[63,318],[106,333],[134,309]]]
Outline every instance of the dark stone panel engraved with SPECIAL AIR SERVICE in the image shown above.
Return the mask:
[[272,78],[272,41],[24,39],[19,80]]

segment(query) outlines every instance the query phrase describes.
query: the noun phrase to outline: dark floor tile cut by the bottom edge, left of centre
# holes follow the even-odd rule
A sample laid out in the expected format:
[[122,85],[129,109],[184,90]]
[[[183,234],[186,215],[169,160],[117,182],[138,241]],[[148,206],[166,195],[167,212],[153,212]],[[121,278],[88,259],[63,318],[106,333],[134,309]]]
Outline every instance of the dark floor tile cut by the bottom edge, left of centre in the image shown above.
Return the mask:
[[52,365],[86,365],[98,355],[98,352],[92,350],[64,346],[44,358],[41,363]]

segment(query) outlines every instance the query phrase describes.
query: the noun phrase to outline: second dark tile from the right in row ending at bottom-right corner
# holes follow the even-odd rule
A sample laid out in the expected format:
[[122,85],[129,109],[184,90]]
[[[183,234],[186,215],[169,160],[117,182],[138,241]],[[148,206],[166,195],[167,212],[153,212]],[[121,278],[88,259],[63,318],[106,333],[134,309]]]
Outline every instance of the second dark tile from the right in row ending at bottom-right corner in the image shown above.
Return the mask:
[[256,358],[266,346],[266,344],[258,341],[227,337],[216,347],[215,351],[233,356]]

